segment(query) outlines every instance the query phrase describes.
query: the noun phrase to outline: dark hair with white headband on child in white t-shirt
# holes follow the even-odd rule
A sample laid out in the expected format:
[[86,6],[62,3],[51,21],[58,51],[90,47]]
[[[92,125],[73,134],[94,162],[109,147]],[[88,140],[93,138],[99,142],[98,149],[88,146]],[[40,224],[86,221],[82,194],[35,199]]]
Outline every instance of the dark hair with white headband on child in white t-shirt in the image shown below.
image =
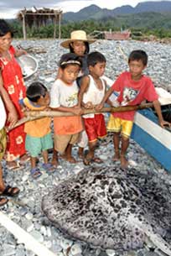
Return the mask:
[[82,67],[82,60],[78,55],[75,55],[73,53],[62,55],[59,61],[59,66],[62,70],[65,70],[65,68],[68,65],[79,65],[80,68]]

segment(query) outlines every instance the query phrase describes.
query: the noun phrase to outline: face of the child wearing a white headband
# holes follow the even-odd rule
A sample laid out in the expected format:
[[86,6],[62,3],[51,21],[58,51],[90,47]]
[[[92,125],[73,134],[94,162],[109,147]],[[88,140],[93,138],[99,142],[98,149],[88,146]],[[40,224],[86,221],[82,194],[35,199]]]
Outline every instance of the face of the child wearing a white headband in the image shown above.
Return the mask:
[[61,80],[67,85],[71,85],[77,78],[80,72],[79,65],[67,65],[64,70],[62,70]]

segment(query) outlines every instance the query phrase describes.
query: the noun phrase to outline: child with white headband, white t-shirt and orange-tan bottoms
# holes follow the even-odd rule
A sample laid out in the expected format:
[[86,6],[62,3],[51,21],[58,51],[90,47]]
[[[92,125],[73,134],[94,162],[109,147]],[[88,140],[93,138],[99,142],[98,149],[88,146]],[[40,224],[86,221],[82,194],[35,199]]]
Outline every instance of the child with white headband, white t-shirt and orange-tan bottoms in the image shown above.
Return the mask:
[[[78,91],[76,77],[81,68],[81,60],[75,54],[62,55],[60,59],[61,76],[54,82],[50,91],[50,107],[61,112],[72,112],[80,115],[78,107]],[[82,131],[81,117],[54,118],[54,149],[65,154],[65,159],[75,163],[71,155],[72,145],[79,140]]]

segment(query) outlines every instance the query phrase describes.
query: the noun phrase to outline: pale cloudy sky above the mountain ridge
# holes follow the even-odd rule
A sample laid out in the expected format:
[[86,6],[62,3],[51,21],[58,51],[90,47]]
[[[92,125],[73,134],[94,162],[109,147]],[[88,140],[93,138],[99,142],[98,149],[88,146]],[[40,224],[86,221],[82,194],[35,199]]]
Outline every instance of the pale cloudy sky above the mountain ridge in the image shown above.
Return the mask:
[[[24,7],[60,8],[66,13],[78,12],[81,8],[85,8],[91,4],[96,4],[101,8],[113,9],[127,4],[135,7],[137,3],[147,1],[148,0],[0,0],[0,18],[16,18],[18,11]],[[159,0],[156,1],[159,2]]]

